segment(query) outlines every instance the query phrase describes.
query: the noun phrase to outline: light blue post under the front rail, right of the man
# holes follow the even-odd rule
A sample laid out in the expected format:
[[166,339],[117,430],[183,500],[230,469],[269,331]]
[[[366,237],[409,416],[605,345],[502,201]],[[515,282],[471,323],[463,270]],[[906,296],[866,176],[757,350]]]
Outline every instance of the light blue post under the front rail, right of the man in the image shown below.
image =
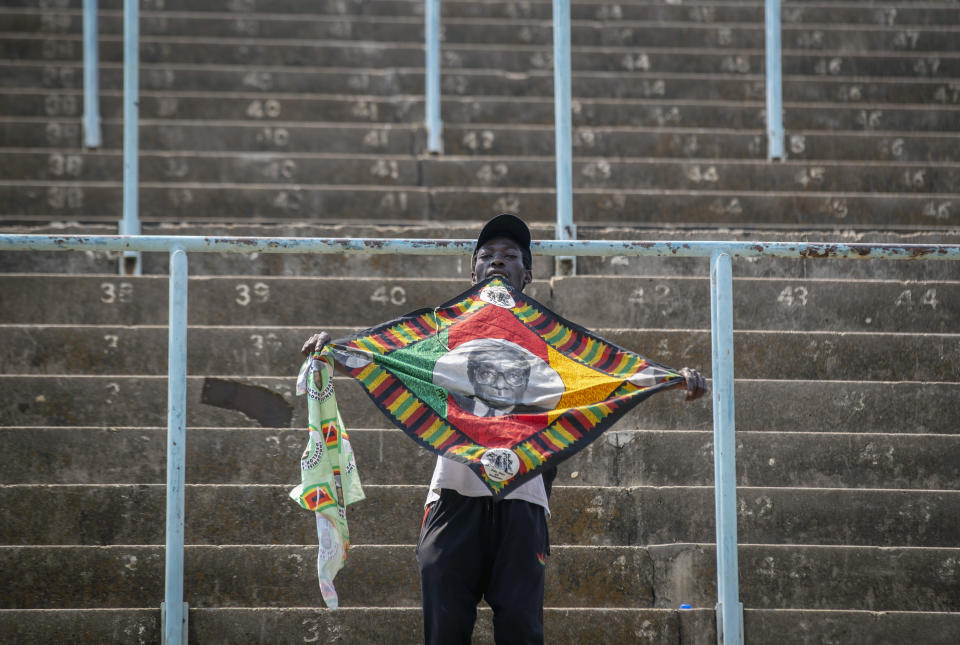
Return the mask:
[[713,465],[717,515],[717,642],[743,645],[737,562],[737,463],[733,396],[733,272],[730,256],[710,258]]

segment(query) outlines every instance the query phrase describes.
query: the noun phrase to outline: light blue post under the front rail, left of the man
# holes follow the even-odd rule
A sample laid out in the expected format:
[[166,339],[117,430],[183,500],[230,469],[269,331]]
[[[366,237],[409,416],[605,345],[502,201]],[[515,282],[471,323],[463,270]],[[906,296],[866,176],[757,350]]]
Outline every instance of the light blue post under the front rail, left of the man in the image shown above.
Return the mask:
[[167,531],[163,643],[187,642],[183,602],[184,507],[187,440],[187,254],[170,251],[170,311],[167,344]]

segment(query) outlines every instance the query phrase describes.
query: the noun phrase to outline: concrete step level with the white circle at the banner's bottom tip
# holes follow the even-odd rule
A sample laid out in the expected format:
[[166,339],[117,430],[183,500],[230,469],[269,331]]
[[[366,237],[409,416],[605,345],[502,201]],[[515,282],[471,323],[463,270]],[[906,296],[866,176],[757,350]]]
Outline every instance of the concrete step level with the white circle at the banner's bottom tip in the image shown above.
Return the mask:
[[[713,484],[712,431],[620,428],[563,462],[554,488]],[[436,458],[399,430],[350,427],[349,432],[365,485],[429,481]],[[162,484],[166,441],[166,426],[2,428],[7,459],[0,484]],[[301,429],[191,427],[186,481],[292,486],[305,445]],[[740,486],[956,490],[958,463],[960,435],[741,431],[737,436]]]

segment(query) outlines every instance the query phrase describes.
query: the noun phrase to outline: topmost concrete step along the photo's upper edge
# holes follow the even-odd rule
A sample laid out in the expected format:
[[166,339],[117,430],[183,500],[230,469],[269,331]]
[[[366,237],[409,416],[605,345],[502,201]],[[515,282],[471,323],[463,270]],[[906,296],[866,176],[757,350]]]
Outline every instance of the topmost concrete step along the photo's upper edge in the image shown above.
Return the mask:
[[[78,10],[80,0],[10,0],[9,7],[56,8]],[[117,11],[122,7],[118,0],[100,4],[103,10]],[[296,0],[216,0],[205,2],[207,11],[226,13],[322,13],[339,16],[420,16],[423,4],[409,0],[374,0],[369,2],[342,2],[324,0],[305,7]],[[823,24],[825,10],[835,17],[832,24],[850,23],[864,25],[950,25],[960,23],[950,2],[925,2],[919,6],[907,2],[878,2],[863,5],[858,2],[793,2],[782,11],[785,24]],[[161,5],[145,7],[148,11],[165,9],[170,12],[196,11],[196,3],[188,0],[165,0]],[[657,20],[711,22],[757,22],[763,20],[761,2],[684,2],[682,5],[669,2],[636,2],[609,4],[605,2],[573,2],[571,16],[580,20],[600,20],[617,24],[622,20]],[[444,3],[443,15],[450,18],[527,18],[550,19],[553,16],[549,2],[495,1],[476,3],[451,0]]]

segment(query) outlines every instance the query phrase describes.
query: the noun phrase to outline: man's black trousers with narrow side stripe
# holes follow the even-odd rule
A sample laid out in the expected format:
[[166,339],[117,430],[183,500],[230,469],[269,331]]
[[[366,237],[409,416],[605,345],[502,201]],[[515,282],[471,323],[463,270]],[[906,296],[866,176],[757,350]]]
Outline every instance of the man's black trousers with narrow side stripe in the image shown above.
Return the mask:
[[542,506],[442,490],[417,545],[426,645],[469,644],[481,598],[497,645],[541,645],[548,553]]

